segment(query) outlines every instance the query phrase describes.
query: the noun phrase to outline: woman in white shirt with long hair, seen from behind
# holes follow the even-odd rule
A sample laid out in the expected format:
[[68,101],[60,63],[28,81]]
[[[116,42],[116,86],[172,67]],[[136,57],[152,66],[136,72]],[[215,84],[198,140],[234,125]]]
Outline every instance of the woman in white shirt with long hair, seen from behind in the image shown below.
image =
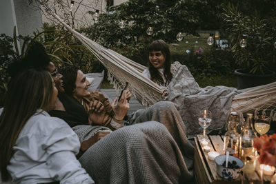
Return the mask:
[[49,72],[14,74],[0,116],[1,178],[16,183],[94,183],[75,154],[79,139],[55,108],[57,88]]

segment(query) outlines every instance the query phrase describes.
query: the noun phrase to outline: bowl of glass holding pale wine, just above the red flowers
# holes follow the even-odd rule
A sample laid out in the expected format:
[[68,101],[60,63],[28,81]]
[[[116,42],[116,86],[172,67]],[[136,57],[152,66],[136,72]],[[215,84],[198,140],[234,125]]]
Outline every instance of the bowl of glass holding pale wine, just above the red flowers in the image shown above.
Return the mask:
[[258,116],[258,118],[255,120],[255,130],[260,134],[266,134],[268,130],[270,129],[270,117],[269,116]]

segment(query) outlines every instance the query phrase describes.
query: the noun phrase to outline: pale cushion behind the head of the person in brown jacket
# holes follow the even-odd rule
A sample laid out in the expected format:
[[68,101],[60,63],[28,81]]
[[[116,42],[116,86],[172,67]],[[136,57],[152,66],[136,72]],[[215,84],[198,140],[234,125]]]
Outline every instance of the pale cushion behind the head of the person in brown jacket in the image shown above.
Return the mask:
[[91,82],[88,91],[99,91],[101,88],[101,82],[103,81],[104,70],[101,73],[88,73],[85,75],[88,81]]

